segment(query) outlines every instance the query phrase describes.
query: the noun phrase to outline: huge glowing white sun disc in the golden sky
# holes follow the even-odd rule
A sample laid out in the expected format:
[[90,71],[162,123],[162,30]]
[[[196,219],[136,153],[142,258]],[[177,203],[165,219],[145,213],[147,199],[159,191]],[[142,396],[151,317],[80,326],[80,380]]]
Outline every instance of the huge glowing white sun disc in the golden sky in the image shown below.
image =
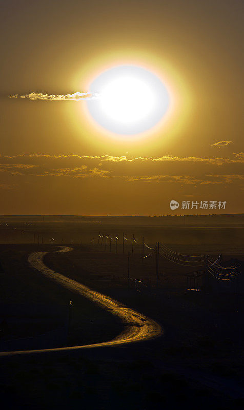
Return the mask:
[[160,78],[139,66],[116,66],[102,72],[93,79],[89,92],[99,93],[98,99],[87,101],[97,124],[125,136],[150,130],[170,105]]

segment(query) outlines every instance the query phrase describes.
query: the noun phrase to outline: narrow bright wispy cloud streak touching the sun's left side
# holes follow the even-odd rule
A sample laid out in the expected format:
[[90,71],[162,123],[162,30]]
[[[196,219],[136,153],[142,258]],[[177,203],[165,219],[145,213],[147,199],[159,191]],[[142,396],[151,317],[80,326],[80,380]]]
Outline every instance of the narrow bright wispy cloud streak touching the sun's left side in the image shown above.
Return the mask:
[[82,101],[83,99],[90,100],[90,99],[99,99],[100,94],[99,93],[80,93],[76,92],[73,94],[43,94],[43,93],[37,93],[37,92],[32,92],[30,94],[24,94],[24,95],[10,95],[9,98],[27,98],[32,101],[35,100],[44,100],[44,101]]

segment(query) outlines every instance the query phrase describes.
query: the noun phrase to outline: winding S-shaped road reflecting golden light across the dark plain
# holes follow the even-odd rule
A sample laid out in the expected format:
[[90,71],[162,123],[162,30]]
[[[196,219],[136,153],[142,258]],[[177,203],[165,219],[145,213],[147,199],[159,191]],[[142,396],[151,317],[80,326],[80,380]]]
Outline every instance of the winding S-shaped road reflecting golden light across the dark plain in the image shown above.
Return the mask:
[[[57,252],[69,252],[72,251],[72,248],[62,247]],[[24,351],[14,351],[14,352],[0,352],[0,356],[9,356],[9,355],[19,355],[19,354],[30,354],[30,353],[42,353],[42,352],[57,352],[57,351],[69,351],[77,350],[82,348],[93,348],[93,347],[103,347],[103,346],[115,346],[124,343],[132,343],[141,340],[148,340],[155,337],[158,337],[162,334],[161,326],[156,323],[154,320],[149,319],[148,317],[141,315],[140,313],[127,308],[124,304],[117,302],[114,299],[111,299],[109,296],[103,295],[87,286],[76,282],[58,272],[53,271],[48,268],[43,262],[44,256],[48,252],[34,252],[30,254],[28,261],[33,268],[44,274],[47,278],[55,281],[64,288],[69,289],[72,292],[78,293],[86,298],[92,300],[101,308],[111,312],[112,314],[119,317],[119,319],[124,322],[125,329],[120,333],[115,339],[94,343],[86,344],[81,346],[68,346],[68,347],[56,347],[56,348],[47,348],[39,350],[24,350]]]

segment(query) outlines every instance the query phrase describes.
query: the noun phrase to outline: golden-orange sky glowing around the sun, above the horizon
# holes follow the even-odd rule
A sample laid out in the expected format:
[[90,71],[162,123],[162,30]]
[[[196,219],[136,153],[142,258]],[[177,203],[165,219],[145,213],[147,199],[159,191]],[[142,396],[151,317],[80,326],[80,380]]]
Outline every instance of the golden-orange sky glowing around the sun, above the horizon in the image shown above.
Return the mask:
[[[235,1],[9,0],[1,13],[0,214],[163,215],[175,199],[243,212],[243,6]],[[100,131],[86,92],[117,64],[157,73],[174,105],[143,138]]]

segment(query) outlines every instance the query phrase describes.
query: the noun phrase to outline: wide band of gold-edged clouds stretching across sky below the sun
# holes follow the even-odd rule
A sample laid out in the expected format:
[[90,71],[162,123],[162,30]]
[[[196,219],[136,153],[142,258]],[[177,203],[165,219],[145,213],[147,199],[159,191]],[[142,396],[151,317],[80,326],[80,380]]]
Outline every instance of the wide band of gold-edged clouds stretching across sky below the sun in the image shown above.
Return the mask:
[[164,157],[127,158],[89,155],[0,155],[1,176],[103,178],[128,183],[157,182],[185,185],[221,185],[243,182],[244,158]]

